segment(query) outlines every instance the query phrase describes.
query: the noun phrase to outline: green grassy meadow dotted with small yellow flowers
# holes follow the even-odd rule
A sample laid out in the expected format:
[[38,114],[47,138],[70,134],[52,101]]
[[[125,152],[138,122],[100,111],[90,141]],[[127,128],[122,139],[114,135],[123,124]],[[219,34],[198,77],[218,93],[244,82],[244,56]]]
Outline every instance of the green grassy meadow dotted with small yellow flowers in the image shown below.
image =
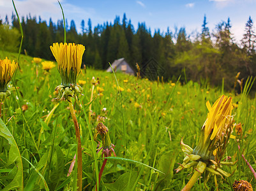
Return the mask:
[[[6,56],[8,59],[17,58],[15,53],[0,52],[0,59]],[[71,176],[67,177],[67,174],[77,151],[77,141],[68,102],[61,101],[58,105],[54,99],[57,96],[54,90],[60,85],[61,78],[57,67],[47,73],[41,69],[41,64],[36,66],[32,60],[32,57],[20,56],[20,68],[15,78],[13,76],[15,86],[19,88],[11,93],[2,106],[2,119],[22,156],[24,183],[20,182],[21,175],[17,173],[20,164],[17,161],[16,165],[11,162],[20,157],[19,153],[2,133],[0,188],[8,184],[11,187],[23,184],[24,190],[72,190],[76,185],[76,168]],[[93,76],[98,84],[94,88],[91,102]],[[116,78],[121,87],[121,96]],[[236,162],[234,166],[223,166],[225,171],[233,173],[232,176],[216,176],[217,184],[215,176],[211,176],[207,188],[216,190],[218,185],[219,190],[231,190],[235,180],[247,180],[256,188],[253,173],[241,156],[243,154],[255,169],[256,99],[248,95],[250,84],[243,87],[242,94],[235,95],[234,92],[225,92],[221,87],[208,87],[207,84],[199,85],[192,81],[181,84],[177,79],[163,83],[161,79],[149,81],[122,73],[116,73],[116,78],[113,73],[94,69],[82,69],[79,75],[79,80],[86,81],[84,85],[78,81],[84,94],[79,99],[88,117],[90,103],[93,111],[88,127],[82,108],[79,104],[75,105],[83,148],[84,190],[95,188],[96,174],[103,163],[100,159],[102,153],[99,152],[98,169],[95,168],[93,155],[96,150],[93,150],[93,140],[89,133],[91,128],[95,134],[99,122],[109,128],[117,155],[116,159],[112,157],[107,160],[100,190],[181,190],[193,171],[192,168],[179,173],[174,171],[184,158],[181,138],[192,148],[197,145],[200,128],[207,117],[206,102],[209,100],[213,104],[222,94],[233,97],[232,115],[236,124],[241,123],[242,130],[238,132],[234,129],[232,134],[237,139],[230,139],[223,157],[223,160]],[[14,87],[13,81],[11,84]],[[52,111],[54,107],[56,110]],[[95,141],[93,144],[94,148],[98,145]],[[206,189],[203,178],[204,174],[192,190]]]

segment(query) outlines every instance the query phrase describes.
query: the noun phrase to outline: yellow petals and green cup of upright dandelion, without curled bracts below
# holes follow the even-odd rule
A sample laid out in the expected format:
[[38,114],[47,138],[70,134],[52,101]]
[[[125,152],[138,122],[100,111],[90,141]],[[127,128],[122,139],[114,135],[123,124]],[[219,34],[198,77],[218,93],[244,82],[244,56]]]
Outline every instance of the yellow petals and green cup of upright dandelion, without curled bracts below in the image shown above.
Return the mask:
[[81,71],[82,55],[86,50],[84,45],[54,43],[50,46],[50,50],[57,61],[57,67],[61,74],[61,85],[64,87],[75,85]]

